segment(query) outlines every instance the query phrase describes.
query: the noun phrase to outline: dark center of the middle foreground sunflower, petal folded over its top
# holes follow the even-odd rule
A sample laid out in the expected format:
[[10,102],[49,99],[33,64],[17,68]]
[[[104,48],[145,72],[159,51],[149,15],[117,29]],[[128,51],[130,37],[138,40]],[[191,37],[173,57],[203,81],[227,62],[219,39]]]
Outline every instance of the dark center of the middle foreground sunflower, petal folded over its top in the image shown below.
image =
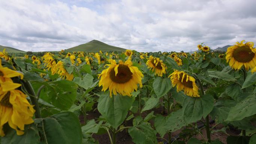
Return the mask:
[[112,68],[110,71],[110,79],[115,83],[126,83],[132,79],[132,72],[127,65],[120,64],[118,73],[115,76],[115,70]]

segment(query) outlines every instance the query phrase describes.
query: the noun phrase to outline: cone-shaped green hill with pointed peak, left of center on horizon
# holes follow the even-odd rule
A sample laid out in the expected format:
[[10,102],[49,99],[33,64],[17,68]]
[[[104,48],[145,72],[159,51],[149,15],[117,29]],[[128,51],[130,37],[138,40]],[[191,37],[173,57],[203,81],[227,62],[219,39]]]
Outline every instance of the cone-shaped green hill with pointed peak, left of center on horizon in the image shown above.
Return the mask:
[[88,43],[75,46],[73,48],[66,49],[68,52],[74,52],[74,51],[85,51],[85,52],[99,52],[100,50],[105,51],[125,51],[126,49],[119,48],[116,46],[110,46],[106,43],[100,42],[98,40],[92,40]]

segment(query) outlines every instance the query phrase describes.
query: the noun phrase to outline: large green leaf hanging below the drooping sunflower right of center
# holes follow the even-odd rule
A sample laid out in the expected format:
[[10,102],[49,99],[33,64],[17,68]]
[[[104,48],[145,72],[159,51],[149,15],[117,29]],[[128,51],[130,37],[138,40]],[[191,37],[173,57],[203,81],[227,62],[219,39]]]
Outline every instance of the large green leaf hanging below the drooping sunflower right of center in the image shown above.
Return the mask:
[[214,98],[211,95],[204,95],[199,98],[187,96],[183,102],[183,117],[186,123],[196,122],[213,110]]

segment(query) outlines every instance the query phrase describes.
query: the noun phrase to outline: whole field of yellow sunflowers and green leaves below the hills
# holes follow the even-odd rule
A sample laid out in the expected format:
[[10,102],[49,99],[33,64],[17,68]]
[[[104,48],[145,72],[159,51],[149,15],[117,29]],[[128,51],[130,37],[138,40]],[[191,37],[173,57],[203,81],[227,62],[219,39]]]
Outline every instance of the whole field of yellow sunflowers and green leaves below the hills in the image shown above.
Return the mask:
[[256,48],[0,52],[0,144],[256,144]]

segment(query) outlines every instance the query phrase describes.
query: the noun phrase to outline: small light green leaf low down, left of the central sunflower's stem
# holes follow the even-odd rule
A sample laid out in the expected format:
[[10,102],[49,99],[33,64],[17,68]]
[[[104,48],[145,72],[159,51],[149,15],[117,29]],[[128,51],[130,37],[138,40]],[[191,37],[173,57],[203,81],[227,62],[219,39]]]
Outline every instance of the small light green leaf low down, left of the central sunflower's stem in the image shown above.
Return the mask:
[[82,126],[82,132],[85,134],[91,134],[91,133],[97,134],[102,122],[103,121],[100,121],[97,124],[97,123],[95,123],[95,120],[92,119],[89,122],[87,122],[87,124],[85,126]]

